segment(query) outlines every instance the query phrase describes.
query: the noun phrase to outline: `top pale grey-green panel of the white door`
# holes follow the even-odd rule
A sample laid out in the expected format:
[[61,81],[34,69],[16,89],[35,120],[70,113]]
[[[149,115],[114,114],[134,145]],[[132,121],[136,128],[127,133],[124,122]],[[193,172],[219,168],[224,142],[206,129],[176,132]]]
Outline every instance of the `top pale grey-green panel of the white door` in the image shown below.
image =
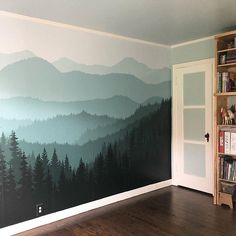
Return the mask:
[[184,75],[184,106],[205,105],[205,73]]

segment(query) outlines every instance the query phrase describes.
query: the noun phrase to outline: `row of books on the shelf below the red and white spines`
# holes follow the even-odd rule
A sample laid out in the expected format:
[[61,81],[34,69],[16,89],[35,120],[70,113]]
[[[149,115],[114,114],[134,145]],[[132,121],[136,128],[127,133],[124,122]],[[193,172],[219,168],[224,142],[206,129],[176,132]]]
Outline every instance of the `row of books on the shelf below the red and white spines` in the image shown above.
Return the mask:
[[220,178],[236,181],[236,160],[227,156],[220,158]]

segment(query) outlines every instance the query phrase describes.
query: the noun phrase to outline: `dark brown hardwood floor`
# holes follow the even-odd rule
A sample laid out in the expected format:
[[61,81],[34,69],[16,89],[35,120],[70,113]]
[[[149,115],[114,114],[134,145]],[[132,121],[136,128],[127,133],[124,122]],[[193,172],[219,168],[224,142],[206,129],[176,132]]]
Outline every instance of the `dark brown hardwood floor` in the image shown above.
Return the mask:
[[212,197],[167,187],[18,236],[236,235],[236,211],[214,206]]

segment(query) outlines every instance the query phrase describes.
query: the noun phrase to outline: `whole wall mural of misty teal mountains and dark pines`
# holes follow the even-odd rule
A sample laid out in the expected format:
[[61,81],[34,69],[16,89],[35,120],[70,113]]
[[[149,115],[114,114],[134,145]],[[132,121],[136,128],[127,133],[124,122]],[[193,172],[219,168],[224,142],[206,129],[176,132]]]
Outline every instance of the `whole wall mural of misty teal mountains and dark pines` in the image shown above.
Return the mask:
[[0,29],[0,227],[170,179],[167,48]]

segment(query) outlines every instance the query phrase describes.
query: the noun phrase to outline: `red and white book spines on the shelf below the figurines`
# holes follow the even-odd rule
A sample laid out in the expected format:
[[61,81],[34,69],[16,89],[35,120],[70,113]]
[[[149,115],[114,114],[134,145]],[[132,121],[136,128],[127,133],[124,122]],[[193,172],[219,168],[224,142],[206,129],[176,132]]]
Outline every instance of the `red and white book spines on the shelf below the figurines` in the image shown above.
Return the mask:
[[236,129],[219,131],[219,153],[236,154]]

